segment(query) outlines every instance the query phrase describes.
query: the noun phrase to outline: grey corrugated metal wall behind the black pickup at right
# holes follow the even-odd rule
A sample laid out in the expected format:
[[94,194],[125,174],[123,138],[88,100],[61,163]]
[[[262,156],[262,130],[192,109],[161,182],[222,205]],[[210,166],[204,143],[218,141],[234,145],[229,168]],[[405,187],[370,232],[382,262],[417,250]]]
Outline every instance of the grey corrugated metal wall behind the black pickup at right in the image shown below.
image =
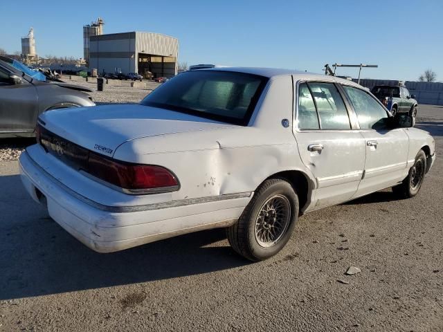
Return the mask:
[[[353,80],[357,82],[357,80]],[[360,80],[360,85],[372,89],[376,85],[397,85],[395,80]],[[406,81],[406,89],[419,104],[443,105],[443,83]]]

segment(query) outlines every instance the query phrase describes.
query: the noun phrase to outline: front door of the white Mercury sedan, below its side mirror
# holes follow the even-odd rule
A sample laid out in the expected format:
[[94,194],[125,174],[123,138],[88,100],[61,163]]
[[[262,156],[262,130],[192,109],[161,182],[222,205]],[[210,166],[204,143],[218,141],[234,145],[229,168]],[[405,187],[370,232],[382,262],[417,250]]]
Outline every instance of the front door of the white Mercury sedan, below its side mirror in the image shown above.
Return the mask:
[[404,129],[388,126],[388,113],[367,91],[343,86],[365,139],[363,178],[354,197],[384,189],[403,180],[408,160],[409,139]]

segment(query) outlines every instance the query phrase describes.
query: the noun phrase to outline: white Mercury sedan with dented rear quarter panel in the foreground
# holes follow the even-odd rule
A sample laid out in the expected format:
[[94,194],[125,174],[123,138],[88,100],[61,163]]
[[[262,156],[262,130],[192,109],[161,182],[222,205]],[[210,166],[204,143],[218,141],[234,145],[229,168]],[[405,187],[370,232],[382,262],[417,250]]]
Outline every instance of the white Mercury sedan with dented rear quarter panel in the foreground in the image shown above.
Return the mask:
[[43,113],[21,178],[97,252],[224,227],[235,251],[259,261],[305,212],[386,187],[415,196],[435,152],[411,125],[337,77],[188,71],[140,104]]

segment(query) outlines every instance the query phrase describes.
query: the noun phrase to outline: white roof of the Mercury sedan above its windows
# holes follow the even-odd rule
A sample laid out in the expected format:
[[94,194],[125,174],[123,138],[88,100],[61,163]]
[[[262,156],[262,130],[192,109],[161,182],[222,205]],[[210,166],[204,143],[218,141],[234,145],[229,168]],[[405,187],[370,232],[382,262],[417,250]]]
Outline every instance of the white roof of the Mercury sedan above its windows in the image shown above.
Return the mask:
[[362,88],[361,85],[356,84],[355,82],[352,82],[350,80],[345,80],[340,77],[316,74],[316,73],[307,73],[306,71],[296,71],[293,69],[261,68],[261,67],[220,67],[220,68],[199,69],[199,71],[233,71],[236,73],[247,73],[247,74],[260,75],[269,78],[292,75],[295,81],[322,80],[327,82],[338,82],[341,84]]

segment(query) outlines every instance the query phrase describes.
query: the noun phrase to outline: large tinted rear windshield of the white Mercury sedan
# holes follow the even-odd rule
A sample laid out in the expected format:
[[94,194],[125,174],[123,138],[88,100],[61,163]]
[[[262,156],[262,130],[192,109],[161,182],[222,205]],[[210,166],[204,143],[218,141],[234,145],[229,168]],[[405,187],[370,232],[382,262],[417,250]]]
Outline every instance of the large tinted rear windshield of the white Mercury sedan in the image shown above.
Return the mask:
[[188,71],[163,83],[141,104],[247,125],[267,80],[229,71]]

